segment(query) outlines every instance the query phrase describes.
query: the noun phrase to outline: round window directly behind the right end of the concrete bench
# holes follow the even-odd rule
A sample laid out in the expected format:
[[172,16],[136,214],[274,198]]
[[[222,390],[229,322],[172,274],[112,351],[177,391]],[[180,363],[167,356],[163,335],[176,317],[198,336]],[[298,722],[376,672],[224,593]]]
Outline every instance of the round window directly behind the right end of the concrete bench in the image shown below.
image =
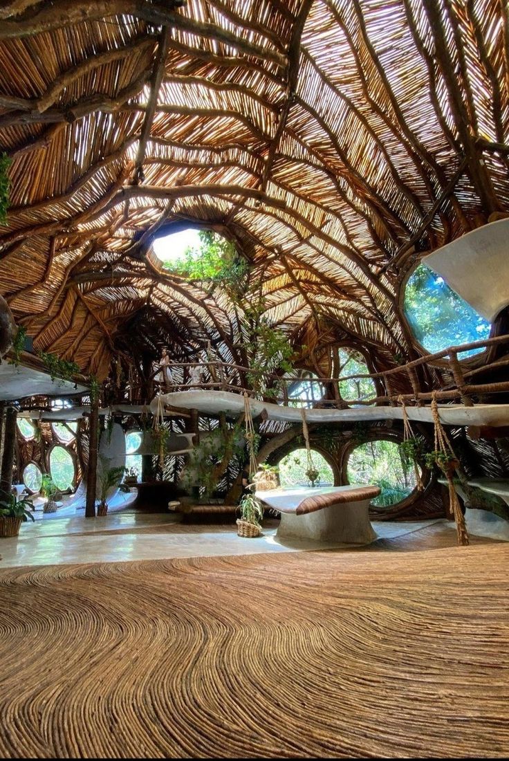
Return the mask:
[[380,495],[371,500],[376,508],[389,508],[406,499],[417,486],[413,467],[405,471],[395,441],[365,441],[348,454],[346,474],[351,484],[380,486]]

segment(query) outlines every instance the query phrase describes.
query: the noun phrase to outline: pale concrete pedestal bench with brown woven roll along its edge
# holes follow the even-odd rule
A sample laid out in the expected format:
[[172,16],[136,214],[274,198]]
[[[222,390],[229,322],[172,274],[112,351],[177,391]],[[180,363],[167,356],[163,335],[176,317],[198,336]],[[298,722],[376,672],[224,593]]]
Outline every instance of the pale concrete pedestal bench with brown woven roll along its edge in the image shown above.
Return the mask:
[[326,486],[271,489],[256,496],[281,513],[279,538],[310,539],[341,544],[370,544],[377,535],[369,505],[378,486]]

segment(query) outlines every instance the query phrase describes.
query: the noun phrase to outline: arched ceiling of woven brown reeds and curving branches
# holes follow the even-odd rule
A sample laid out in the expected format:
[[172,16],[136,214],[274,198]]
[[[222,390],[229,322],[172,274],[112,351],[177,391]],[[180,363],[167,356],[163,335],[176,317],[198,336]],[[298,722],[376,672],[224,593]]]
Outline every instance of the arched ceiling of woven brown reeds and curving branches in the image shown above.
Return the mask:
[[508,210],[506,4],[179,5],[0,2],[14,316],[100,375],[138,319],[231,353],[218,291],[143,255],[148,232],[199,221],[294,337],[409,356],[409,266]]

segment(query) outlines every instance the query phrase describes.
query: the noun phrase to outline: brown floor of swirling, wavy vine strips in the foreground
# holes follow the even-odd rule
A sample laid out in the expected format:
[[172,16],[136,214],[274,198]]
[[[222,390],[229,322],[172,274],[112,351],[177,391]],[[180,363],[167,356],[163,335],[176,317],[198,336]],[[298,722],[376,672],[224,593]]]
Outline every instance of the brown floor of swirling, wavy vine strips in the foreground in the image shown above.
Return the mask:
[[0,572],[2,756],[505,756],[509,546]]

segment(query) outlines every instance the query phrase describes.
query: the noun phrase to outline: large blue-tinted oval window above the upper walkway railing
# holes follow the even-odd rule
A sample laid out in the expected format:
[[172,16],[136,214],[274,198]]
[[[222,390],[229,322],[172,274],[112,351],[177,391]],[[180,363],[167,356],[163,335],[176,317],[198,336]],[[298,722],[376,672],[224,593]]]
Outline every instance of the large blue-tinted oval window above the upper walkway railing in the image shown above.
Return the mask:
[[[406,283],[403,310],[415,338],[431,354],[487,339],[492,328],[425,264],[419,264]],[[484,351],[484,347],[470,349],[458,357],[466,359]]]

